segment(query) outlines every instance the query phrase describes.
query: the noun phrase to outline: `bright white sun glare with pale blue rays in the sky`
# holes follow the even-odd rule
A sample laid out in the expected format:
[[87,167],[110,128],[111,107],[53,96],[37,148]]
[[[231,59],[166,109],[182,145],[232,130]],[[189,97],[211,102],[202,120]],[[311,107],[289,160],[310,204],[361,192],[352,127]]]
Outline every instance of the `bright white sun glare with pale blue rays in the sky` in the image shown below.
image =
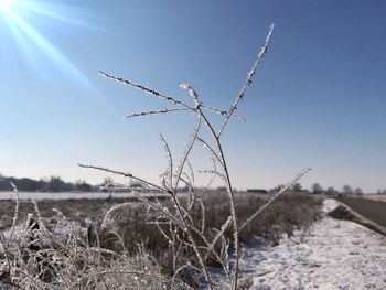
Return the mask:
[[[64,8],[64,6],[61,6],[61,8]],[[65,12],[68,12],[68,9],[66,8]],[[2,36],[0,35],[1,58],[4,62],[24,58],[36,71],[53,65],[83,85],[90,87],[90,82],[81,69],[33,24],[36,21],[36,15],[40,18],[50,17],[52,21],[60,20],[76,25],[84,24],[81,20],[66,18],[66,13],[60,14],[60,9],[55,9],[55,7],[44,1],[0,0],[0,18],[2,19],[0,25],[3,24],[2,30],[7,32],[2,33]],[[8,53],[4,53],[4,51],[8,51]],[[9,57],[10,54],[12,57]],[[18,60],[18,63],[20,63],[20,60]],[[25,62],[22,63],[25,64]]]

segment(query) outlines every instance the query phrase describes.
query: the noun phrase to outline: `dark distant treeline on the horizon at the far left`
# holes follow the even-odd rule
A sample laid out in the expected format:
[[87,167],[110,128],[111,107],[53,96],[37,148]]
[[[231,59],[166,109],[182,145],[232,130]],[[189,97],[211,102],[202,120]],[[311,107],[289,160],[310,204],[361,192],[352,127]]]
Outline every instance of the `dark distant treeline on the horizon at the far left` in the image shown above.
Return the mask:
[[78,180],[75,183],[65,182],[60,176],[51,176],[49,179],[32,180],[6,178],[0,175],[0,191],[10,191],[14,183],[19,191],[24,192],[64,192],[64,191],[84,191],[90,192],[98,190],[99,186],[93,186],[85,181]]

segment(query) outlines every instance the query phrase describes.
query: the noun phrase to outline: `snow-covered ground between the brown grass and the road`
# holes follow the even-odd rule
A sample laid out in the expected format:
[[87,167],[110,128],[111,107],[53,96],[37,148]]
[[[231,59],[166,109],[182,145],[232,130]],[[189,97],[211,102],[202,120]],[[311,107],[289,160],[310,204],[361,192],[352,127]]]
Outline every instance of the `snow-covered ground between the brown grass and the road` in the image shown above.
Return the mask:
[[[323,212],[339,203],[325,200]],[[309,233],[270,247],[245,245],[242,281],[250,289],[386,289],[386,237],[324,216]]]

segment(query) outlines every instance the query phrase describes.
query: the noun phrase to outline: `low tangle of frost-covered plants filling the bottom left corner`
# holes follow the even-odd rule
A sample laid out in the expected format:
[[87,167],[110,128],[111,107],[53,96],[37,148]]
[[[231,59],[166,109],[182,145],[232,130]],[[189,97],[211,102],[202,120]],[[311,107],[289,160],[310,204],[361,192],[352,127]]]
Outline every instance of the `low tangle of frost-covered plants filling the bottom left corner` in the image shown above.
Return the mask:
[[[161,273],[161,267],[142,245],[136,254],[90,245],[79,225],[53,208],[58,223],[47,229],[34,203],[24,226],[17,226],[19,198],[8,237],[1,232],[4,258],[0,265],[1,289],[190,289]],[[112,234],[112,230],[110,230]]]

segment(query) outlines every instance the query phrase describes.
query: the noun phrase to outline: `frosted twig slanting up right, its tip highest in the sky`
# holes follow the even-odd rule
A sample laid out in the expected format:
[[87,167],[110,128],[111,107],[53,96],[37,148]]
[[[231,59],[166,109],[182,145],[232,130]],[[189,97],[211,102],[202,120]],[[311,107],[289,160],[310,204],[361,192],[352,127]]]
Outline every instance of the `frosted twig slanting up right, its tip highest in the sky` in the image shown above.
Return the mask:
[[269,26],[269,32],[268,32],[268,35],[266,37],[266,42],[265,44],[262,45],[260,52],[258,53],[257,55],[257,58],[253,65],[253,68],[250,69],[250,72],[248,73],[248,77],[244,84],[244,86],[242,87],[242,89],[239,90],[239,93],[237,94],[230,109],[228,110],[228,114],[218,131],[218,138],[222,136],[224,129],[225,129],[225,126],[227,125],[230,116],[233,115],[233,112],[237,109],[237,105],[239,101],[243,100],[244,98],[244,95],[245,95],[245,92],[247,90],[247,88],[250,86],[250,84],[253,83],[253,79],[254,79],[254,76],[256,75],[256,71],[257,71],[257,67],[260,63],[260,61],[262,60],[264,55],[268,52],[268,45],[269,45],[269,42],[271,40],[271,36],[272,36],[272,33],[274,33],[274,28],[275,28],[275,24],[272,23],[270,26]]

